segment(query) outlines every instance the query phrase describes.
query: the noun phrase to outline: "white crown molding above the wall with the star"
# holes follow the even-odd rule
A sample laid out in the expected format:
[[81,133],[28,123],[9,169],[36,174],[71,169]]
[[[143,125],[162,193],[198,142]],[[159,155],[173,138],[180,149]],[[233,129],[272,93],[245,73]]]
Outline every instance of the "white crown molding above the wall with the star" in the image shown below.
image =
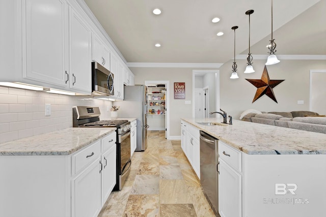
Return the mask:
[[[248,55],[237,55],[238,60],[247,60]],[[252,55],[254,60],[266,60],[268,55]],[[279,60],[326,60],[326,55],[277,55]]]

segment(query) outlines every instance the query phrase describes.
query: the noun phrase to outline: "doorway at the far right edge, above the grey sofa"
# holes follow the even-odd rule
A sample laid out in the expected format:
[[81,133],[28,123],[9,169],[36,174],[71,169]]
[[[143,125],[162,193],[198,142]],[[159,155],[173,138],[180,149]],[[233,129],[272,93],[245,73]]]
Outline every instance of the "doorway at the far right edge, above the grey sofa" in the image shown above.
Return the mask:
[[326,114],[326,70],[310,70],[309,110]]

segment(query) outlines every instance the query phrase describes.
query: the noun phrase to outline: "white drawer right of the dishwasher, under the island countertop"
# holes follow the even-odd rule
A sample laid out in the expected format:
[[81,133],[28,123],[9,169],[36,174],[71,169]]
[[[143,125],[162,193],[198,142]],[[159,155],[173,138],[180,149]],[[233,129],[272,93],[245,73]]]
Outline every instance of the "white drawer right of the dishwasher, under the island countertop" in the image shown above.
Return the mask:
[[241,172],[241,152],[219,141],[219,157],[235,170]]

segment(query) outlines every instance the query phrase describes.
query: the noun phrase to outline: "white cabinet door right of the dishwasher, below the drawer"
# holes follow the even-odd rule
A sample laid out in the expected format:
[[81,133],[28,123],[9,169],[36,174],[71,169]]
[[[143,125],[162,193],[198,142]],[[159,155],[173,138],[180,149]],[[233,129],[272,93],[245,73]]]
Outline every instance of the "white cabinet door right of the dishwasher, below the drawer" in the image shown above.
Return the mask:
[[219,213],[221,217],[241,216],[241,175],[219,160]]

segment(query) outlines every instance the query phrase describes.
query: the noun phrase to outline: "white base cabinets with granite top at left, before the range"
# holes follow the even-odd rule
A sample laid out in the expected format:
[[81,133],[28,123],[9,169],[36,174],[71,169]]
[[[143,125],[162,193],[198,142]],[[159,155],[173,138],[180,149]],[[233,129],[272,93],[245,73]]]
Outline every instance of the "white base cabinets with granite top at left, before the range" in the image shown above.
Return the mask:
[[116,128],[0,144],[0,216],[97,216],[116,184]]

